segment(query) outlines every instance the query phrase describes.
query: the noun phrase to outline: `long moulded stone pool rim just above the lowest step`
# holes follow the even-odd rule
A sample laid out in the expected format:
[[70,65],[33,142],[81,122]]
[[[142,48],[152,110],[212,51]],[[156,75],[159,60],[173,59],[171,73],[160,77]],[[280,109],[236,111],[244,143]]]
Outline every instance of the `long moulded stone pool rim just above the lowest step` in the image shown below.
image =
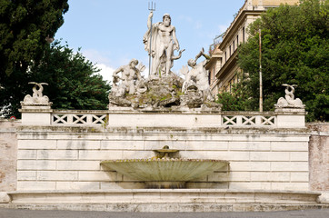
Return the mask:
[[317,204],[318,192],[214,190],[214,189],[125,189],[108,191],[15,191],[8,193],[14,204],[125,203],[267,203]]

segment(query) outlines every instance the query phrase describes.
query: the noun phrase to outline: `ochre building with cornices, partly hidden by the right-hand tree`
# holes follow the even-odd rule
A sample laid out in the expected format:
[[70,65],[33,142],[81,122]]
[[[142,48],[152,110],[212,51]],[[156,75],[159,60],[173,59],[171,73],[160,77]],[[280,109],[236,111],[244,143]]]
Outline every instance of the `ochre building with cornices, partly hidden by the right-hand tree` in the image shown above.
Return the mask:
[[296,5],[299,0],[245,0],[244,5],[222,36],[222,41],[213,45],[211,60],[206,65],[209,83],[214,96],[231,92],[233,84],[239,81],[241,69],[237,65],[237,48],[248,39],[248,26],[268,8],[281,4]]

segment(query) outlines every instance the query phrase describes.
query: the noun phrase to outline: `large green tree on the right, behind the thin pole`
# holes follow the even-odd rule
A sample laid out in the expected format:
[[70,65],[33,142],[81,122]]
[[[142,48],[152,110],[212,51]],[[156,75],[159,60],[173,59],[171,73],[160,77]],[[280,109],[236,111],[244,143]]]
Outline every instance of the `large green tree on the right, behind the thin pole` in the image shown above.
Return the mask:
[[259,102],[259,30],[262,33],[264,110],[273,110],[284,95],[282,84],[297,84],[295,96],[306,106],[308,121],[329,120],[329,1],[301,0],[300,5],[269,9],[250,25],[250,37],[239,49],[238,64],[247,73],[245,100]]

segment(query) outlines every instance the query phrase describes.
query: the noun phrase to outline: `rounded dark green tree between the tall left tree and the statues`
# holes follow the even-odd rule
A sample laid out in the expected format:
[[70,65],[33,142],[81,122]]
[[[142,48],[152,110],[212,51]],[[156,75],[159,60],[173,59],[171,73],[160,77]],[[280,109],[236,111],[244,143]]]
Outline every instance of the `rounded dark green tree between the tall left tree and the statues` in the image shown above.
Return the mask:
[[57,109],[105,110],[111,86],[97,72],[85,56],[58,41],[31,67],[33,81],[49,84],[44,93]]

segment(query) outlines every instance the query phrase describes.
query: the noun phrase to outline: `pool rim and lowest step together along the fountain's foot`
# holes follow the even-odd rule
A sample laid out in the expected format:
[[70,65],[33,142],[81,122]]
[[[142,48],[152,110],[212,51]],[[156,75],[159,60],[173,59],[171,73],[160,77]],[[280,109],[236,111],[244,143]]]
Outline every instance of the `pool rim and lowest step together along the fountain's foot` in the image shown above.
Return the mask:
[[108,191],[16,191],[0,206],[31,210],[109,212],[238,212],[329,208],[318,192],[124,189]]

